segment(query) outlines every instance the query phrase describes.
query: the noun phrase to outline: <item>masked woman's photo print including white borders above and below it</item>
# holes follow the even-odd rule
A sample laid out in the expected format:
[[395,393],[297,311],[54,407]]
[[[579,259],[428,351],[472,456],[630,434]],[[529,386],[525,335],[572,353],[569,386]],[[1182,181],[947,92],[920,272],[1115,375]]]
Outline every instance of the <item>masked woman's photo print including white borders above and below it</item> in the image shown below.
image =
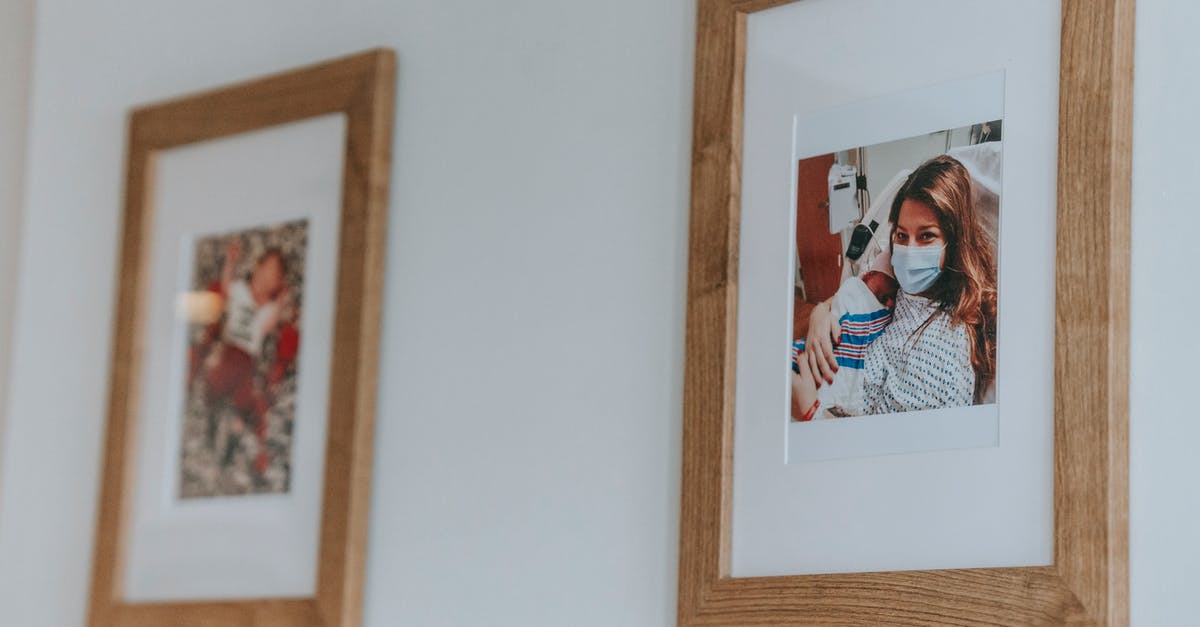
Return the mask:
[[794,120],[788,461],[997,444],[1003,106],[992,72]]

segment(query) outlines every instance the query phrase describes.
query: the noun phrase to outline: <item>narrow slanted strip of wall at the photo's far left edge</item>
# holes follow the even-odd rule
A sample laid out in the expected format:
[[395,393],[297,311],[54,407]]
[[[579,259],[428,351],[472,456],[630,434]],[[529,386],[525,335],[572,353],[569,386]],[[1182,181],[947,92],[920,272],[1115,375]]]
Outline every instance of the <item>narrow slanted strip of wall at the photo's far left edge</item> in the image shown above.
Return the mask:
[[8,399],[32,46],[34,0],[0,0],[0,444]]

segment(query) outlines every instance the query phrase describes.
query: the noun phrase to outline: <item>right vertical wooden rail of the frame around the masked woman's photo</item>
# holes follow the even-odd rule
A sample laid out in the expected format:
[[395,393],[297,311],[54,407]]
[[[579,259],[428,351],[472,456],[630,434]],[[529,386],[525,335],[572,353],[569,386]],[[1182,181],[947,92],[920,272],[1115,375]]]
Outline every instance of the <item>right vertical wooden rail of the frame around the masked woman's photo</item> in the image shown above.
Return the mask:
[[1063,2],[1055,315],[1055,565],[1128,622],[1134,0]]

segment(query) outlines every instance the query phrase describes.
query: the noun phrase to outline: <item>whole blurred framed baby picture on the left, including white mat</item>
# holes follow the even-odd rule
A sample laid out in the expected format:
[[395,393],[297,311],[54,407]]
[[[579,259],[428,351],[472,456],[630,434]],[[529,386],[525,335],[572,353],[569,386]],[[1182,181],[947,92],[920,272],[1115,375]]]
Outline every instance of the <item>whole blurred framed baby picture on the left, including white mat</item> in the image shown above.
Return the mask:
[[395,73],[131,114],[92,627],[361,622]]

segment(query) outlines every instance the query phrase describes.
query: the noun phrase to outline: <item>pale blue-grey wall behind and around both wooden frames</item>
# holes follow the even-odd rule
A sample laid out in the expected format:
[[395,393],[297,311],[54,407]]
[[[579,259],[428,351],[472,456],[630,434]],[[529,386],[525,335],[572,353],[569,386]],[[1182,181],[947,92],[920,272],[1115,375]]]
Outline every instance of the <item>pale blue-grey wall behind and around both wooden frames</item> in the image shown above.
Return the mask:
[[[0,4],[0,46],[30,5]],[[692,10],[41,0],[28,162],[30,72],[0,54],[0,211],[26,191],[0,625],[83,623],[125,109],[371,44],[400,49],[401,86],[367,627],[673,625]],[[1194,623],[1200,587],[1200,4],[1138,12],[1132,595],[1151,627]],[[468,381],[463,356],[492,365]]]

